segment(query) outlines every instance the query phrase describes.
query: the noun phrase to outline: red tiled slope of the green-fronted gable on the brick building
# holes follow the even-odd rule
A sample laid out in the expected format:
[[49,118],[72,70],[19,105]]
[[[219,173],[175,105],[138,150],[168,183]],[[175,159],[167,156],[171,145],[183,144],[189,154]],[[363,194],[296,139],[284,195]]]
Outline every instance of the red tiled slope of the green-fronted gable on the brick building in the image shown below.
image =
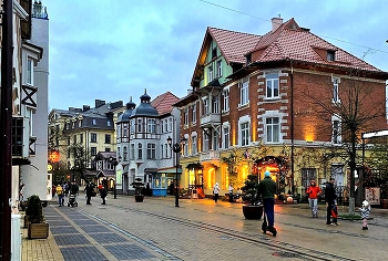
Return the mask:
[[261,39],[259,35],[234,32],[217,28],[207,28],[207,32],[217,42],[218,48],[228,63],[245,63],[248,53]]

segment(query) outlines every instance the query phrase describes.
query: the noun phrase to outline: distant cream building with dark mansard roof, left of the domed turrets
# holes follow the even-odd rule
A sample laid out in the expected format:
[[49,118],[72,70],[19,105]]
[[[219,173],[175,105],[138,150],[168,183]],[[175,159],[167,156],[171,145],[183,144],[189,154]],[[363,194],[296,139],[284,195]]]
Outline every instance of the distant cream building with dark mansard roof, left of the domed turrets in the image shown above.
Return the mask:
[[[52,164],[55,181],[69,180],[73,173],[93,180],[99,152],[115,152],[114,122],[124,109],[122,101],[105,103],[95,100],[95,107],[52,109],[49,114],[49,149],[60,153],[60,163]],[[80,180],[83,182],[83,180]]]

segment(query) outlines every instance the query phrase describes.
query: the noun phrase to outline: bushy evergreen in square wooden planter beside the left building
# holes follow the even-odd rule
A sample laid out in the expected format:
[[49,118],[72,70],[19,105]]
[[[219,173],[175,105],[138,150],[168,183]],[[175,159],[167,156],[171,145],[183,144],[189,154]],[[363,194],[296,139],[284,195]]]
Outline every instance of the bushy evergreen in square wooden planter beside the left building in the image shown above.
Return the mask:
[[28,198],[25,216],[28,217],[28,238],[47,239],[49,237],[49,223],[43,216],[43,206],[38,195]]

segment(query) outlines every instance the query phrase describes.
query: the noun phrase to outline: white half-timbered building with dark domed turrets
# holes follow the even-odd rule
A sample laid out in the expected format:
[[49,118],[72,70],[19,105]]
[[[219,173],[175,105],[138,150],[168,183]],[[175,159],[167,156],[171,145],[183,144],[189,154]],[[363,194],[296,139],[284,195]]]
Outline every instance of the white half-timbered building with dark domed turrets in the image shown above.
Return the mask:
[[153,195],[166,195],[176,173],[167,138],[180,138],[180,112],[172,106],[177,101],[166,92],[151,102],[145,92],[139,106],[132,98],[126,104],[118,121],[119,190],[133,192],[131,184],[141,178]]

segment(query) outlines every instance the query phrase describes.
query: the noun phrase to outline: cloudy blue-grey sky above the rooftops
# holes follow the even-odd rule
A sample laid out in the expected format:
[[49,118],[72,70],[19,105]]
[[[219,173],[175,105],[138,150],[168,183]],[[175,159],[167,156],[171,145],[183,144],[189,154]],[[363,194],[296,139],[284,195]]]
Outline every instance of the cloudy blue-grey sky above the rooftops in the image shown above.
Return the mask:
[[386,0],[42,0],[50,20],[52,108],[94,100],[139,104],[187,94],[207,27],[263,35],[270,19],[299,27],[388,71]]

